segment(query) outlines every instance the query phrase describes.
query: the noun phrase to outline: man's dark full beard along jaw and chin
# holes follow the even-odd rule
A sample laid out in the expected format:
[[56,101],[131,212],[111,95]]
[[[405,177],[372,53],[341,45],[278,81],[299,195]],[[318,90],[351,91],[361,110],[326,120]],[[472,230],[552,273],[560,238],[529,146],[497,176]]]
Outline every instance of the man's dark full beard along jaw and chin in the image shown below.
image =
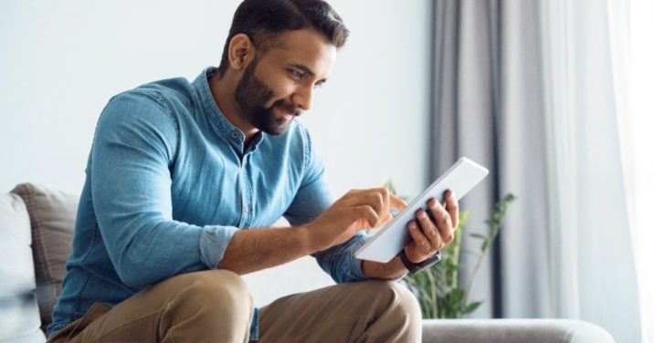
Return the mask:
[[240,115],[250,125],[258,130],[271,135],[280,135],[289,130],[291,120],[277,118],[274,108],[288,110],[293,113],[293,118],[301,115],[301,110],[284,100],[275,101],[272,106],[266,107],[266,103],[272,99],[274,93],[254,76],[254,69],[257,67],[258,59],[255,58],[243,72],[243,77],[238,81],[234,98],[240,107]]

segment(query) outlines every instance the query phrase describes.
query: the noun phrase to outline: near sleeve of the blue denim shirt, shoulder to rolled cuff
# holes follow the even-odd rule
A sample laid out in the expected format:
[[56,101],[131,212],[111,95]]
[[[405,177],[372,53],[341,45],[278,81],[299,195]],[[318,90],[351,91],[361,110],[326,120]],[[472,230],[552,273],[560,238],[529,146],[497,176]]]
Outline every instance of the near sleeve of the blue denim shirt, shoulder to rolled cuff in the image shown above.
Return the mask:
[[111,99],[96,129],[87,171],[93,207],[111,263],[134,290],[216,267],[237,232],[173,219],[178,134],[170,110],[147,91]]

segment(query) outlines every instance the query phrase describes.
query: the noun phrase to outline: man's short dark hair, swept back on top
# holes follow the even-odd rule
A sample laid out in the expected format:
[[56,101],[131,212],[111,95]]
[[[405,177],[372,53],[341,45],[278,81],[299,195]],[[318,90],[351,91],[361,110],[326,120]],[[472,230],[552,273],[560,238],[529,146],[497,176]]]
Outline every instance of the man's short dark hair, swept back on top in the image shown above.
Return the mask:
[[218,74],[227,71],[227,52],[234,36],[248,35],[255,47],[265,52],[279,43],[275,38],[280,34],[303,28],[315,29],[337,48],[343,47],[350,33],[332,5],[322,0],[244,0],[234,14]]

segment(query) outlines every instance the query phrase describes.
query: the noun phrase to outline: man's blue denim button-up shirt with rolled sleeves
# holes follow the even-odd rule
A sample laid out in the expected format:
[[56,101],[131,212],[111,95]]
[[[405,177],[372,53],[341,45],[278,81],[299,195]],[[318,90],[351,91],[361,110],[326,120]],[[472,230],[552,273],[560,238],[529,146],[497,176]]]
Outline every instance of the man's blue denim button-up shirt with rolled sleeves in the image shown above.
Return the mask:
[[[281,216],[308,223],[332,204],[322,161],[295,120],[279,136],[245,136],[216,106],[206,68],[115,96],[102,111],[72,253],[48,333],[94,302],[115,306],[174,275],[215,268],[238,230]],[[334,281],[363,280],[364,235],[314,254]],[[251,339],[258,339],[258,316]]]

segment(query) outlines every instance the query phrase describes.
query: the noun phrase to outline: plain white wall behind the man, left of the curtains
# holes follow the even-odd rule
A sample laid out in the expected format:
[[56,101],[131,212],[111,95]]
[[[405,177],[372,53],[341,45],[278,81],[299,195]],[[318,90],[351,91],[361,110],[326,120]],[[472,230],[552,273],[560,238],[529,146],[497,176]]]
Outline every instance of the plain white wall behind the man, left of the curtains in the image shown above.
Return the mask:
[[[239,1],[0,2],[0,192],[79,192],[112,95],[218,64]],[[427,184],[427,0],[333,0],[352,34],[302,118],[335,194]]]

